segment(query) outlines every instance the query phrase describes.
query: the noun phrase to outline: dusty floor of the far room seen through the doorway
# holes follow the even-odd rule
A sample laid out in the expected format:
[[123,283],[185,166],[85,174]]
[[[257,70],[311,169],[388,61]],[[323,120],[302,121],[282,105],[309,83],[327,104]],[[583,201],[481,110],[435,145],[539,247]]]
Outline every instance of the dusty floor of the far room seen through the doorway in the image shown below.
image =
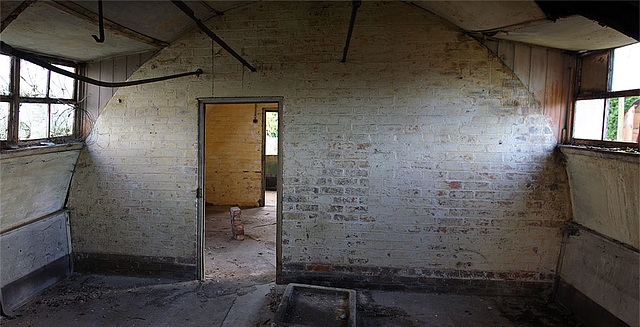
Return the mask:
[[276,192],[266,192],[264,207],[242,208],[243,241],[232,238],[229,208],[206,207],[205,277],[275,282]]

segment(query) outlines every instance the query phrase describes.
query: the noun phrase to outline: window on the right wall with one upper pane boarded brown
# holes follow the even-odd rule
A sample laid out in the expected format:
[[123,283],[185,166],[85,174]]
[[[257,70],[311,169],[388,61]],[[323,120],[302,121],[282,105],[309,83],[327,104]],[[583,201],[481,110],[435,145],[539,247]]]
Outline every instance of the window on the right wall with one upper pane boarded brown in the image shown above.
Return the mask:
[[573,143],[638,147],[640,43],[580,58]]

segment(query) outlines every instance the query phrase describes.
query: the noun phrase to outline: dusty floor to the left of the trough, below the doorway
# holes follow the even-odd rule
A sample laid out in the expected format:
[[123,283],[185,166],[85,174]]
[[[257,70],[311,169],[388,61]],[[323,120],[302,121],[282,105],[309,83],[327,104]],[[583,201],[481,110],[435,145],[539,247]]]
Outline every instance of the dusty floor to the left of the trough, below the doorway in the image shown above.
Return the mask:
[[261,326],[271,286],[74,274],[0,325]]

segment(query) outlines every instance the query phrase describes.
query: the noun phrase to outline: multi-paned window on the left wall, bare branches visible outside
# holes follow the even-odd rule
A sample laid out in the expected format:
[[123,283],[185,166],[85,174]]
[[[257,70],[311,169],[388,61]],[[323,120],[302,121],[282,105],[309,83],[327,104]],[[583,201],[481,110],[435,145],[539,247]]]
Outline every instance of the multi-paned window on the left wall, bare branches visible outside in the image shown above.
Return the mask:
[[[69,65],[55,65],[69,72]],[[76,81],[15,57],[0,55],[0,141],[30,144],[72,138]]]

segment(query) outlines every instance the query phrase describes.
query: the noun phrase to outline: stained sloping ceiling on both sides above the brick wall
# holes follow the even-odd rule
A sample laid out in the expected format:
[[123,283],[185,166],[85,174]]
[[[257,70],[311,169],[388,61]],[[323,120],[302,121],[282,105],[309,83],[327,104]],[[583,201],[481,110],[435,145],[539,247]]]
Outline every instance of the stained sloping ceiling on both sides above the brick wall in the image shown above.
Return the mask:
[[[200,20],[206,21],[229,10],[251,5],[255,1],[185,2]],[[576,15],[575,12],[581,11],[580,8],[543,5],[545,11],[533,0],[406,3],[416,10],[432,12],[469,33],[482,33],[498,39],[545,47],[583,51],[636,42],[612,28]],[[603,3],[611,4],[606,1]],[[625,4],[629,5],[627,2]],[[91,37],[98,34],[97,1],[3,0],[0,5],[0,37],[4,42],[17,49],[78,62],[157,50],[196,26],[171,1],[105,0],[103,9],[106,41],[99,44]],[[366,6],[366,2],[363,6]],[[594,5],[589,8],[591,7]],[[554,15],[557,17],[552,17]],[[634,18],[631,16],[626,19]],[[634,22],[626,23],[633,25]]]

